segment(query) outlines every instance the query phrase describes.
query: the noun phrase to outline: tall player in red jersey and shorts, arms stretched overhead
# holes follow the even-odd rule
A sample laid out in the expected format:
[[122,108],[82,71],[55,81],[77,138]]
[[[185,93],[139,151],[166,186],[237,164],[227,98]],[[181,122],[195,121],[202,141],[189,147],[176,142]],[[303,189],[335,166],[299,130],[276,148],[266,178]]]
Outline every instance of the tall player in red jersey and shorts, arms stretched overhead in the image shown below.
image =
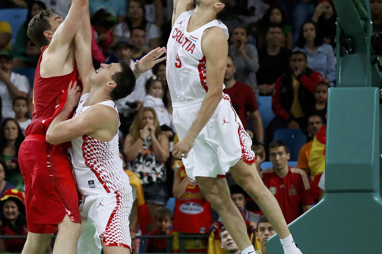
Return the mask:
[[76,253],[81,218],[67,158],[70,143],[52,146],[45,133],[63,108],[69,82],[78,80],[74,36],[87,5],[88,0],[73,0],[65,22],[50,9],[28,25],[28,36],[42,53],[34,77],[33,118],[19,150],[29,231],[23,254],[44,253],[57,227],[53,253]]

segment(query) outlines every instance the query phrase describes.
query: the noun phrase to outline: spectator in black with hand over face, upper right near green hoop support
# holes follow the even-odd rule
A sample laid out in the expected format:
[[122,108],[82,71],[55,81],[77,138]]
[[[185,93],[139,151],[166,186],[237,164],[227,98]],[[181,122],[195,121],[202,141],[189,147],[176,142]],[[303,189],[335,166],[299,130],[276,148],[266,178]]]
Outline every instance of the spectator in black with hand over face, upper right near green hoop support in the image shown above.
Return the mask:
[[335,48],[334,38],[337,30],[337,13],[333,1],[323,0],[319,3],[314,10],[312,21],[317,23],[317,29],[320,31],[324,42]]

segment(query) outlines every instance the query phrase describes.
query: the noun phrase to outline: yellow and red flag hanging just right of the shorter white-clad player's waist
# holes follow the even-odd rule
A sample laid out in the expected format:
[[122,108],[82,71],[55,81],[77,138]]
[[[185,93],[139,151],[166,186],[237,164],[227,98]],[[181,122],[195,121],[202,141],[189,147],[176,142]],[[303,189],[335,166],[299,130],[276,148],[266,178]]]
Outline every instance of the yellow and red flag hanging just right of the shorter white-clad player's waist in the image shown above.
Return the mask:
[[129,177],[130,185],[135,186],[137,190],[137,202],[138,202],[138,222],[141,228],[142,235],[146,235],[146,227],[152,222],[149,209],[147,209],[146,201],[144,200],[143,188],[141,180],[138,175],[130,170],[125,170]]

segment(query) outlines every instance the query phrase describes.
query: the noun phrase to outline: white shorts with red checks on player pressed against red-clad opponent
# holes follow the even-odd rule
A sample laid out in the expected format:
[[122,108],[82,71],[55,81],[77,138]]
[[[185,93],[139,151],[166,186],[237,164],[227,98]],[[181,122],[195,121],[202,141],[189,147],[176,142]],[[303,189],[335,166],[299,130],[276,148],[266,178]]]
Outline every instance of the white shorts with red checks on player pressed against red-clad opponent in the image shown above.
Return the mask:
[[[105,246],[131,249],[129,214],[133,206],[131,189],[102,195],[84,195],[79,207],[82,230],[78,254],[99,254]],[[101,243],[102,242],[102,243]]]

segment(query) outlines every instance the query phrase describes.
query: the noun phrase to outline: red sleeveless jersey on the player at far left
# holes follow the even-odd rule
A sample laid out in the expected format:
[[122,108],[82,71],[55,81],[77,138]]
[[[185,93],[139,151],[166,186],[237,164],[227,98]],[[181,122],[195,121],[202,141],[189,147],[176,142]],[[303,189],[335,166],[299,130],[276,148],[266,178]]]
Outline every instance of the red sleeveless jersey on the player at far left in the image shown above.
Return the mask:
[[44,51],[49,45],[41,48],[40,59],[34,74],[33,85],[33,113],[32,122],[25,130],[25,134],[45,135],[53,118],[60,113],[66,101],[67,88],[70,81],[78,80],[77,69],[58,77],[43,78],[40,76],[40,63]]

